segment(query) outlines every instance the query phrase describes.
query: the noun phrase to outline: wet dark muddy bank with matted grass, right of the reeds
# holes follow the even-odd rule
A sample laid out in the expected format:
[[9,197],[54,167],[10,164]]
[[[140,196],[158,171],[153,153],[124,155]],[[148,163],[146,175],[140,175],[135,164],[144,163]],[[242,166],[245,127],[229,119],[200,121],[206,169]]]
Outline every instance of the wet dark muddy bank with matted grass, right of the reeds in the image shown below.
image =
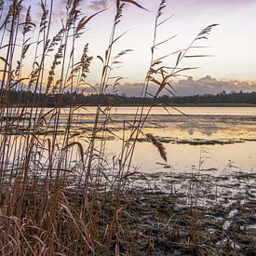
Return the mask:
[[[254,173],[138,173],[120,195],[112,254],[117,243],[120,255],[255,255],[255,195]],[[109,219],[115,196],[98,201]]]

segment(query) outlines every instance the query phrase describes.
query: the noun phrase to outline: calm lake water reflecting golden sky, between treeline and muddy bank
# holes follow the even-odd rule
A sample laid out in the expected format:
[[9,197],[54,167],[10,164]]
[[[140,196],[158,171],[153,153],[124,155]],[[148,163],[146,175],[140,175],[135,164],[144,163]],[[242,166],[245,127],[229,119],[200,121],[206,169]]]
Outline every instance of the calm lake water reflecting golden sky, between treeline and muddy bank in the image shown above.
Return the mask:
[[[251,171],[256,168],[256,108],[253,107],[181,107],[186,115],[180,115],[169,108],[168,112],[160,107],[153,109],[143,128],[144,133],[152,133],[163,142],[168,155],[164,163],[157,149],[146,138],[140,137],[137,143],[132,165],[144,172],[155,171],[198,171],[209,173],[222,171]],[[13,113],[15,113],[13,109]],[[46,109],[45,113],[50,111]],[[71,132],[84,131],[89,135],[94,118],[95,107],[74,112]],[[145,110],[146,112],[147,110]],[[134,120],[136,107],[113,108],[109,120],[110,133],[106,141],[106,155],[118,155],[122,142],[117,137],[123,136],[124,121]],[[68,111],[61,110],[60,136],[67,122]],[[5,118],[2,115],[1,118]],[[103,119],[102,119],[103,120]],[[45,117],[49,135],[53,120]],[[28,120],[23,116],[25,128]],[[128,126],[125,136],[129,135]],[[10,131],[12,134],[19,130]],[[45,133],[44,133],[45,132]],[[115,137],[116,135],[116,137]],[[84,147],[88,143],[80,138]],[[100,141],[99,141],[100,144]]]

